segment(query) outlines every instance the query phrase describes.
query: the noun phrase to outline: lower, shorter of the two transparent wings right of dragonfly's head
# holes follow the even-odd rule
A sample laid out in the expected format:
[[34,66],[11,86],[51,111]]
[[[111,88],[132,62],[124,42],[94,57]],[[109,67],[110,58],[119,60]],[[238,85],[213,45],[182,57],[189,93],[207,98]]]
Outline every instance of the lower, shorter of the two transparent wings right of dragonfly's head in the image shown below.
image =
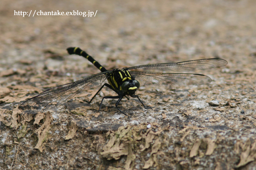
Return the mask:
[[210,77],[203,74],[178,74],[160,72],[130,72],[140,85],[152,89],[170,89],[179,86],[204,85],[210,83]]

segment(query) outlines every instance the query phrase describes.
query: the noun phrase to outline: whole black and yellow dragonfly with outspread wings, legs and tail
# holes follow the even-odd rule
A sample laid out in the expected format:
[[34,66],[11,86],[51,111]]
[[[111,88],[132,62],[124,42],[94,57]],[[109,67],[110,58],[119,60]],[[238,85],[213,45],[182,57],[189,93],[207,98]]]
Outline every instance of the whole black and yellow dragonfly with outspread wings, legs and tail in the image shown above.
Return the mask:
[[[69,47],[67,49],[69,54],[77,54],[87,58],[95,67],[97,67],[101,73],[94,74],[85,79],[75,81],[74,83],[68,83],[52,89],[48,89],[41,94],[30,98],[22,103],[22,105],[33,106],[36,104],[48,105],[51,102],[65,102],[67,99],[72,98],[76,94],[91,89],[93,87],[101,86],[97,93],[91,98],[88,103],[95,98],[100,90],[106,86],[117,93],[117,96],[104,96],[100,103],[100,108],[104,99],[118,99],[115,106],[117,106],[123,97],[130,96],[132,98],[138,98],[144,108],[146,107],[140,100],[138,95],[135,95],[140,85],[153,89],[169,89],[186,85],[203,85],[211,82],[210,77],[203,74],[184,74],[184,73],[162,73],[162,72],[148,72],[137,70],[161,70],[161,71],[193,71],[203,70],[208,68],[216,68],[225,66],[228,64],[223,59],[202,59],[192,60],[187,62],[178,63],[163,63],[163,64],[147,64],[141,66],[133,66],[123,69],[106,70],[102,65],[88,55],[85,51],[82,51],[78,47]],[[136,71],[134,71],[136,69]],[[130,70],[130,71],[129,71]],[[107,80],[108,83],[103,82]],[[139,83],[140,82],[140,83]],[[102,85],[103,84],[103,85]]]

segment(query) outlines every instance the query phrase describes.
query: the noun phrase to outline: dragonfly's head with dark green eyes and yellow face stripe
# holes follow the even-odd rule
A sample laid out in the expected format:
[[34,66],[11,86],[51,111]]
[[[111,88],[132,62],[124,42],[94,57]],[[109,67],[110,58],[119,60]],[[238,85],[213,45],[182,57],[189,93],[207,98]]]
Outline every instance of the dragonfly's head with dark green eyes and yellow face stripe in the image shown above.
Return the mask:
[[135,80],[134,77],[132,77],[131,80],[125,81],[121,85],[122,91],[124,91],[125,94],[132,96],[135,95],[135,91],[139,89],[139,81]]

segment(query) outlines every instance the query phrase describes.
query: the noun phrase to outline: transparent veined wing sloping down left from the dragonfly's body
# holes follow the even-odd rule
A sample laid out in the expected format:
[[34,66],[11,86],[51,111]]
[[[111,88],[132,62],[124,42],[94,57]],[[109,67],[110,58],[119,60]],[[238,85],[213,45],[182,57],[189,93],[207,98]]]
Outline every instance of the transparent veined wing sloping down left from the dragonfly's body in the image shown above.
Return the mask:
[[46,106],[51,102],[65,102],[67,99],[72,98],[82,91],[100,86],[108,77],[108,73],[109,72],[102,72],[99,74],[94,74],[73,83],[48,89],[43,91],[41,94],[26,100],[24,103],[22,103],[22,105],[34,106],[36,104],[40,104],[41,106]]

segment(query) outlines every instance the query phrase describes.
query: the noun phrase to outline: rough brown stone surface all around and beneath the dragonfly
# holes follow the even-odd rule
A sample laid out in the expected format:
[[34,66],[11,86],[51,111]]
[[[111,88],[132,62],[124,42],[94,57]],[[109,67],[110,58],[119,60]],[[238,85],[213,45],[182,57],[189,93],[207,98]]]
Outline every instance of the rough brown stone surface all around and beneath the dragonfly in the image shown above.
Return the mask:
[[[0,5],[0,170],[253,170],[256,167],[256,1],[18,1]],[[31,11],[32,10],[32,11]],[[37,12],[94,12],[35,15]],[[14,11],[30,16],[14,15]],[[121,100],[103,88],[63,104],[18,109],[40,92],[106,69],[223,58],[228,65],[194,73],[198,87],[140,88]],[[188,73],[188,72],[187,72]],[[190,72],[189,72],[190,73]],[[218,106],[209,102],[218,100]],[[149,126],[150,124],[150,126]],[[150,128],[148,128],[148,127]]]

